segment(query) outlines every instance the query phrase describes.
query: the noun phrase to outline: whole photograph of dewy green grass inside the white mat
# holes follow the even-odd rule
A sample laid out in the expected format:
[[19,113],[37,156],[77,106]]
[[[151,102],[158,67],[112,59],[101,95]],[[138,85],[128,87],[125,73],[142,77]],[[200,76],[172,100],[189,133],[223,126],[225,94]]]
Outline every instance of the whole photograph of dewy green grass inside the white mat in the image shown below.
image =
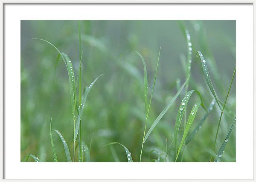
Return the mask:
[[236,162],[236,20],[20,20],[20,162]]

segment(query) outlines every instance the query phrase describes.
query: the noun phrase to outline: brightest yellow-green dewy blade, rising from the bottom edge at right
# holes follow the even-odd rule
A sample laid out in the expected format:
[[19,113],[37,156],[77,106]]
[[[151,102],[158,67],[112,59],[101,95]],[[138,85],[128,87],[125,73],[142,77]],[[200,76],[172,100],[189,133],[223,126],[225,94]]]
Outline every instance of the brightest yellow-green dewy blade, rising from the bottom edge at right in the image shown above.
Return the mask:
[[182,148],[182,146],[183,146],[183,144],[184,144],[184,142],[185,142],[186,136],[187,136],[188,133],[189,133],[189,130],[190,130],[190,128],[191,128],[191,125],[192,125],[193,122],[194,122],[195,115],[196,115],[196,113],[197,113],[197,111],[198,111],[198,108],[199,108],[200,104],[201,104],[200,102],[195,103],[195,105],[193,106],[193,108],[192,108],[192,110],[191,110],[191,112],[190,112],[189,119],[188,119],[188,121],[187,121],[186,128],[185,128],[185,130],[184,130],[184,133],[183,133],[183,136],[182,136],[182,139],[181,139],[181,142],[180,142],[180,147],[179,147],[179,150],[178,150],[178,153],[177,153],[177,156],[176,156],[175,161],[178,159],[178,156],[179,156],[179,154],[180,154],[180,150],[181,150],[181,148]]

